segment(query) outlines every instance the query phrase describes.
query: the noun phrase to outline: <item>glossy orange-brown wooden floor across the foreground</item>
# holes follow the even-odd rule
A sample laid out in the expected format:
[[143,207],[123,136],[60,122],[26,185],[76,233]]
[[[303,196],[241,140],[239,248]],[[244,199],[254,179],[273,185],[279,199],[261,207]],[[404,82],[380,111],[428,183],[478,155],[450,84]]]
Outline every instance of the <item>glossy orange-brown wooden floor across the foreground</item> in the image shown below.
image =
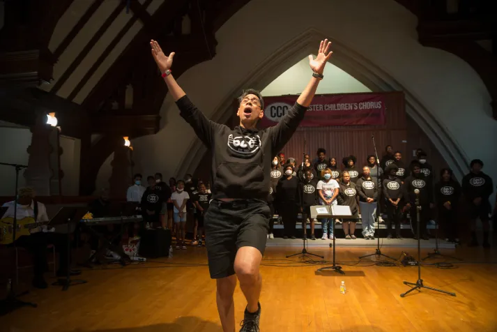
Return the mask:
[[[497,331],[496,250],[444,250],[464,258],[457,269],[422,267],[425,285],[455,292],[456,297],[423,289],[402,299],[418,269],[342,264],[345,276],[319,274],[319,266],[286,260],[296,248],[268,248],[261,273],[261,331]],[[312,248],[331,259],[331,249]],[[423,254],[429,250],[423,250]],[[337,261],[357,263],[370,248],[338,248]],[[383,253],[399,257],[402,249]],[[408,252],[415,255],[415,250]],[[424,257],[425,255],[423,255]],[[497,259],[494,259],[497,260]],[[436,259],[429,261],[437,262]],[[438,260],[440,262],[440,260]],[[478,262],[475,264],[475,262]],[[215,282],[208,278],[205,248],[175,252],[172,259],[121,268],[84,271],[86,285],[31,290],[22,308],[0,317],[0,331],[191,332],[221,331],[215,306]],[[339,292],[346,282],[347,293]],[[235,293],[236,321],[245,302]],[[238,331],[238,329],[237,329]]]

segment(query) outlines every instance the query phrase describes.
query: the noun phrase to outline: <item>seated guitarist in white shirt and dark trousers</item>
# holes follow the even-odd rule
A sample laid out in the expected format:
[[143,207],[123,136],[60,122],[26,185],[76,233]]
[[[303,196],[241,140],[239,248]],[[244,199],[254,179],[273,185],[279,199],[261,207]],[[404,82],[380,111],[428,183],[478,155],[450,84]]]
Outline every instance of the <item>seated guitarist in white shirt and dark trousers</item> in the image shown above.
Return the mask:
[[[36,202],[34,199],[35,192],[32,188],[20,188],[17,192],[17,222],[23,220],[24,218],[33,218],[31,222],[47,222],[47,209],[45,209],[45,204]],[[14,218],[15,202],[7,202],[3,204],[4,207],[8,207],[6,213],[2,216],[3,218]],[[31,223],[28,222],[28,223]],[[66,276],[68,271],[68,246],[66,234],[59,234],[51,232],[52,229],[47,225],[40,225],[34,229],[30,230],[31,235],[20,236],[16,241],[15,245],[26,248],[31,252],[33,257],[33,286],[36,288],[47,288],[47,282],[43,278],[43,273],[47,271],[47,246],[52,244],[55,249],[59,252],[59,271],[57,271],[57,276]],[[72,270],[70,271],[71,276],[77,276],[81,274],[80,271]]]

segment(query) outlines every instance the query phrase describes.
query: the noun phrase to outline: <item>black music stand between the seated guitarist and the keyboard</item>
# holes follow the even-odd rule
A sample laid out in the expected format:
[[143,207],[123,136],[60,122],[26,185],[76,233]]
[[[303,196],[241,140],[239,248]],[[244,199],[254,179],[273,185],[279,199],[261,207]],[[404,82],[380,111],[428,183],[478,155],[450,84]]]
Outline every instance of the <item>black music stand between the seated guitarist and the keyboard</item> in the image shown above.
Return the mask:
[[66,278],[59,279],[52,283],[54,286],[62,286],[62,290],[68,290],[70,285],[81,285],[86,284],[86,280],[71,280],[70,279],[70,257],[71,257],[71,242],[70,242],[70,226],[77,225],[77,222],[86,214],[86,207],[63,207],[59,210],[59,213],[50,220],[50,225],[67,225],[67,238],[68,238],[68,262]]

